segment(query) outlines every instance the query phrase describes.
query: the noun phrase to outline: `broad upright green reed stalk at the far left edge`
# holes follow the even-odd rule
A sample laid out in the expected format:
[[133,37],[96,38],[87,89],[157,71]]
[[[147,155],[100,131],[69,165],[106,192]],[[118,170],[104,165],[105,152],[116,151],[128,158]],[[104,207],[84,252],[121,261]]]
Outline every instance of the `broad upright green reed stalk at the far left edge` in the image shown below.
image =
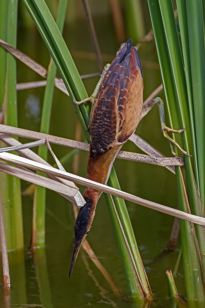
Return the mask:
[[[3,8],[0,13],[3,36],[9,44],[16,47],[18,1],[3,2],[1,1],[1,8],[2,6]],[[1,100],[4,99],[3,123],[17,127],[16,59],[1,50],[0,61],[2,70],[0,92]],[[19,179],[1,174],[1,200],[7,250],[22,249],[24,239]]]

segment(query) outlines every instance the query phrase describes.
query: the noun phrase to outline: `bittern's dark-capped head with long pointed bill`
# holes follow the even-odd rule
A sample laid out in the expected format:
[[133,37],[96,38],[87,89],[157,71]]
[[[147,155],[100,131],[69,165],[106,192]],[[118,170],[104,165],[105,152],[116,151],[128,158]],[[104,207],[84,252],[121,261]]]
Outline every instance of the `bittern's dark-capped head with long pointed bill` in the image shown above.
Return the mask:
[[91,218],[91,202],[90,200],[85,200],[86,204],[84,207],[82,207],[78,213],[78,216],[76,218],[75,222],[75,242],[74,242],[74,252],[73,257],[71,261],[71,268],[69,277],[71,276],[71,272],[73,269],[73,266],[75,264],[75,260],[77,258],[78,252],[80,250],[80,246],[85,238],[85,236],[88,234],[92,218]]

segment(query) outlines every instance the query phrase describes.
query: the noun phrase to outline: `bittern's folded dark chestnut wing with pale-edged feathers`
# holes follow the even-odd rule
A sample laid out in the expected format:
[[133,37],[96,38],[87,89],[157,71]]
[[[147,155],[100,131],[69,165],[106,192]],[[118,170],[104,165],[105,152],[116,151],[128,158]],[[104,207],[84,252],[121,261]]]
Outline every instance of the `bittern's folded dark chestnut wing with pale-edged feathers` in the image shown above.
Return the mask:
[[[107,152],[117,144],[117,135],[126,110],[129,77],[126,68],[116,63],[108,71],[94,106],[90,140],[93,156]],[[104,78],[104,79],[105,79]]]

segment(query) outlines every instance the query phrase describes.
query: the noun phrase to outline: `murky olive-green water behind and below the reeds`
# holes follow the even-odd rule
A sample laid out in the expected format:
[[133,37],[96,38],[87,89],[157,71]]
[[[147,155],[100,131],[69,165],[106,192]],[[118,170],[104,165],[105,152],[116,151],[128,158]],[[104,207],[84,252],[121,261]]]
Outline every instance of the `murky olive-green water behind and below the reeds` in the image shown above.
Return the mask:
[[[111,17],[95,20],[97,35],[102,53],[114,58],[119,44],[116,42]],[[100,32],[103,29],[103,32]],[[149,27],[148,27],[149,29]],[[31,29],[32,30],[32,29]],[[37,31],[25,30],[21,24],[18,29],[18,48],[34,58],[44,67],[48,67],[49,55]],[[69,50],[93,51],[89,31],[85,21],[67,24],[64,38]],[[148,68],[149,61],[157,62],[154,43],[144,45],[139,51],[143,66],[144,98],[160,83],[158,69]],[[93,60],[74,57],[80,74],[97,72]],[[105,63],[106,64],[106,63]],[[17,62],[18,82],[39,80],[36,73]],[[98,81],[93,78],[84,81],[90,95]],[[44,88],[18,92],[19,127],[39,131]],[[163,97],[162,97],[163,99]],[[71,100],[55,89],[51,115],[50,134],[64,138],[75,138],[77,115]],[[137,134],[155,146],[166,156],[171,156],[169,144],[160,130],[157,107],[140,122]],[[82,133],[82,141],[84,136]],[[26,142],[26,139],[21,139]],[[52,145],[58,158],[70,149]],[[124,151],[141,151],[128,141]],[[88,153],[80,153],[79,175],[86,175]],[[51,155],[49,162],[53,163]],[[72,170],[72,164],[64,166]],[[175,176],[167,169],[131,161],[116,160],[114,163],[121,189],[166,206],[177,206]],[[22,181],[22,189],[29,183]],[[84,188],[80,187],[83,193]],[[169,240],[173,217],[126,202],[139,251],[147,272],[153,294],[157,301],[153,307],[175,307],[168,297],[166,270],[174,269],[178,250],[161,255]],[[121,259],[116,243],[112,223],[107,211],[107,204],[102,195],[96,210],[95,219],[87,239],[99,261],[112,276],[122,296],[116,296],[111,286],[98,268],[82,249],[77,258],[71,278],[68,278],[73,252],[74,215],[71,203],[53,191],[47,191],[46,210],[46,248],[32,256],[29,245],[31,236],[32,197],[23,197],[23,221],[25,251],[12,252],[10,258],[11,304],[12,307],[43,305],[48,308],[60,307],[137,307],[130,299],[123,273]],[[178,244],[180,247],[180,243]],[[177,288],[184,294],[182,264],[175,278]],[[2,296],[2,292],[1,292]]]

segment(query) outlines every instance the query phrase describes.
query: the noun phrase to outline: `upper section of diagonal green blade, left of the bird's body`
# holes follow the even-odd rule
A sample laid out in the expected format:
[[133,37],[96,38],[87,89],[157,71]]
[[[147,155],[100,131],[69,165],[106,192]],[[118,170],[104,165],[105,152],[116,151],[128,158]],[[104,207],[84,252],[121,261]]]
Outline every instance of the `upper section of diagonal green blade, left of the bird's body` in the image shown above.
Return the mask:
[[[30,13],[34,23],[46,44],[49,53],[51,54],[60,74],[68,90],[68,93],[73,99],[80,101],[85,99],[87,93],[80,79],[80,75],[75,67],[73,59],[67,49],[67,46],[62,38],[62,35],[50,14],[48,7],[44,1],[22,0]],[[34,3],[33,3],[34,2]],[[35,4],[35,6],[34,6]],[[38,10],[36,9],[38,8]],[[43,12],[43,16],[42,16]],[[45,17],[45,19],[44,19]],[[42,19],[41,19],[42,18]],[[51,33],[52,31],[52,33]],[[72,88],[72,91],[71,91]],[[80,119],[81,125],[84,129],[87,142],[89,142],[89,133],[87,131],[89,124],[89,115],[84,104],[79,107],[74,104],[75,111]],[[89,108],[87,108],[89,109]]]

